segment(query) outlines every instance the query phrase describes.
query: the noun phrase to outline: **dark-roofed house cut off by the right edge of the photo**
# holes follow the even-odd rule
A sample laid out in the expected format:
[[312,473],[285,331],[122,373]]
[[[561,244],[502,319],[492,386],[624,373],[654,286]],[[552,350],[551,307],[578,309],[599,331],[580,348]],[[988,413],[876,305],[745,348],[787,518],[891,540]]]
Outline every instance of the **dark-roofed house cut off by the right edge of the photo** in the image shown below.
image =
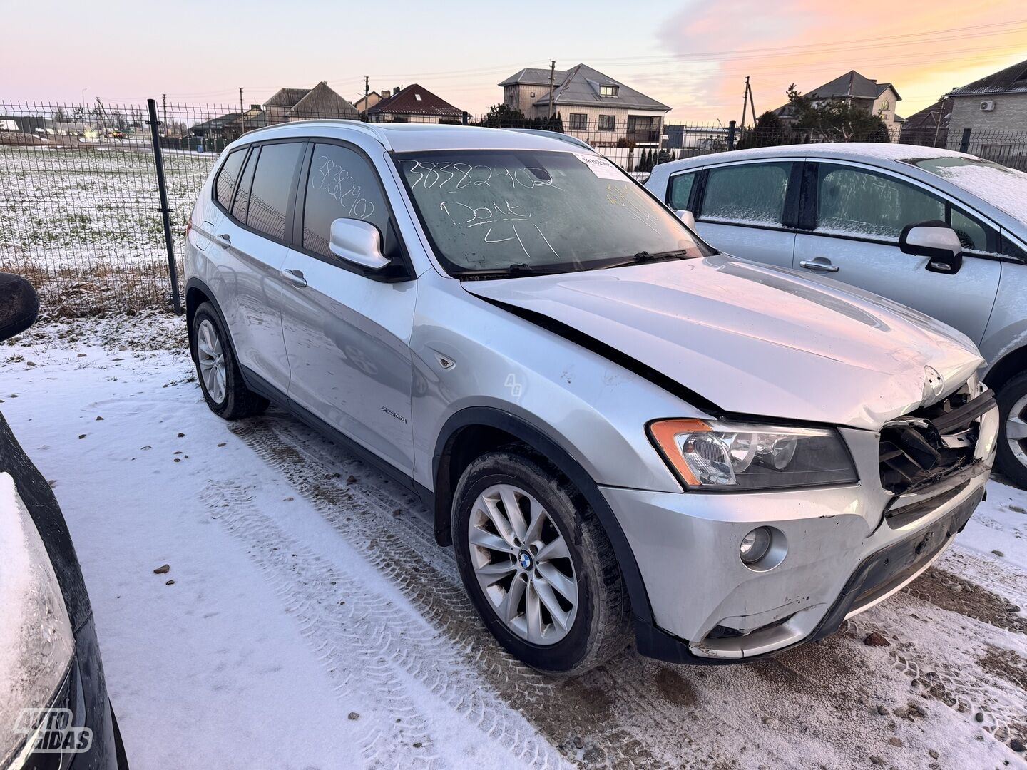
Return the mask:
[[949,130],[953,138],[969,128],[983,138],[991,131],[1027,130],[1027,62],[954,88]]

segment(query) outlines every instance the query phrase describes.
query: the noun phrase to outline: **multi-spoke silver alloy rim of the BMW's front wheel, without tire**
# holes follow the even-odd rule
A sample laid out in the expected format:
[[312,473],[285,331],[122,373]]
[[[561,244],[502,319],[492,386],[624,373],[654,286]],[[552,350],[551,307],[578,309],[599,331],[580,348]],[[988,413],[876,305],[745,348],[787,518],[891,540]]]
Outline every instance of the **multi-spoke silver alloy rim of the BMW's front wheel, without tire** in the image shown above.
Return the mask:
[[560,642],[578,607],[567,541],[542,505],[508,484],[489,487],[467,524],[474,575],[500,620],[536,645]]

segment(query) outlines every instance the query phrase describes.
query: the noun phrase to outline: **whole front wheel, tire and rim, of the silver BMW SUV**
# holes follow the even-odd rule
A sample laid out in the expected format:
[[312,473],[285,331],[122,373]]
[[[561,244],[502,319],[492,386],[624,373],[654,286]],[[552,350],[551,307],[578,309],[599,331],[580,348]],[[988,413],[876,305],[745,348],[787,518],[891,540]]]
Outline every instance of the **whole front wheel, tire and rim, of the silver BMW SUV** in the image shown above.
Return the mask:
[[544,459],[483,455],[460,477],[453,540],[489,630],[528,665],[583,673],[630,641],[613,547],[584,498]]

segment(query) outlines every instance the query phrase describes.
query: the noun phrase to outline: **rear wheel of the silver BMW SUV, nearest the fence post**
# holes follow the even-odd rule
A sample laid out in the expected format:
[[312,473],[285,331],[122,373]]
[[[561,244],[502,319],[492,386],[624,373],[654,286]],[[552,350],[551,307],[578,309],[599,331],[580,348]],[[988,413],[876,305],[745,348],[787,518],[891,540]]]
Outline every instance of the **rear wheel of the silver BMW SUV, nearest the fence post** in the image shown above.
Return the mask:
[[242,381],[232,346],[208,302],[200,305],[193,316],[191,343],[199,386],[212,412],[226,420],[237,420],[267,409],[267,399]]

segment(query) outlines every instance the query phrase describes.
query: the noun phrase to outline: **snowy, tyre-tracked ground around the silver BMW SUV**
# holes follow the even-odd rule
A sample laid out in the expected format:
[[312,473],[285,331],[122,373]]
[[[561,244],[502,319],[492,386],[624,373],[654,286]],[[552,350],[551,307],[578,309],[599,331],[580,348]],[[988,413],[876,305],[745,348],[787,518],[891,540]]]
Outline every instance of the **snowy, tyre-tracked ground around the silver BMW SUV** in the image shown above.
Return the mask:
[[41,322],[0,364],[136,770],[1024,764],[1020,490],[990,483],[935,568],[822,643],[726,667],[626,651],[554,680],[482,629],[408,493],[281,412],[215,417],[181,318]]

